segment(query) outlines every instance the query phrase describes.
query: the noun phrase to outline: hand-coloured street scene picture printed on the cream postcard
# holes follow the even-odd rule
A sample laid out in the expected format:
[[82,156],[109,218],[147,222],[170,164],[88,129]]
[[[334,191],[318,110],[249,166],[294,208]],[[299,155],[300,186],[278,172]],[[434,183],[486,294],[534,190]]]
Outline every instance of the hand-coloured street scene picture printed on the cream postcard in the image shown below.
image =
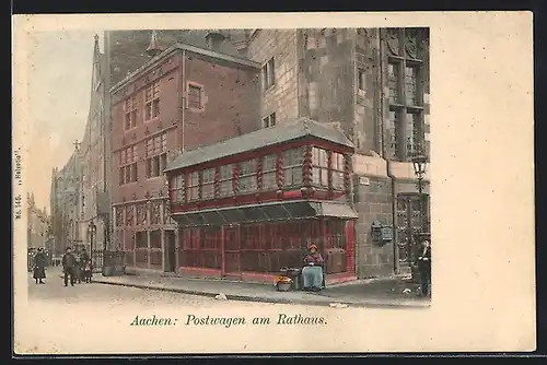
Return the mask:
[[33,40],[30,301],[429,305],[428,28]]

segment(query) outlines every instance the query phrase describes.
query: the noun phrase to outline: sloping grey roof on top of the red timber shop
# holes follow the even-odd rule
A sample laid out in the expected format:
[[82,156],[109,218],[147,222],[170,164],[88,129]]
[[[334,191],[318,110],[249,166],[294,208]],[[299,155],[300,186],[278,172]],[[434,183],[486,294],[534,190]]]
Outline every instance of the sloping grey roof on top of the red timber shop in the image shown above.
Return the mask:
[[298,140],[304,137],[313,137],[353,148],[351,141],[339,129],[307,118],[300,118],[293,123],[277,125],[205,148],[183,152],[167,165],[164,172],[195,166],[205,162]]

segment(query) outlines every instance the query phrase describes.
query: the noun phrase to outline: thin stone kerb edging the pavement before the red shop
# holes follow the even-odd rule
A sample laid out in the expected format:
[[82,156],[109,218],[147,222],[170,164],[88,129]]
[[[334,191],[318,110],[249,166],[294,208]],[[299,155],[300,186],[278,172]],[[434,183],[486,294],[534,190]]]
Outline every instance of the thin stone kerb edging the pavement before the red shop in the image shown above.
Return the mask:
[[[107,282],[101,280],[94,280],[93,283],[104,284],[104,285],[117,285],[117,286],[126,286],[126,287],[136,287],[143,290],[153,290],[159,292],[171,292],[171,293],[179,293],[179,294],[188,294],[196,296],[205,296],[214,298],[219,293],[211,292],[198,292],[186,289],[176,289],[176,287],[162,287],[162,286],[152,286],[146,284],[131,284],[131,283],[116,283],[116,282]],[[248,295],[237,295],[237,294],[224,294],[228,301],[237,301],[237,302],[255,302],[255,303],[272,303],[272,304],[300,304],[300,305],[309,305],[309,306],[319,306],[319,307],[330,307],[331,303],[340,303],[347,304],[348,307],[358,307],[358,308],[412,308],[412,309],[424,309],[429,308],[426,304],[400,304],[400,303],[374,303],[374,302],[341,302],[337,299],[317,302],[317,301],[306,301],[306,299],[283,299],[283,298],[265,298],[261,296],[248,296]]]

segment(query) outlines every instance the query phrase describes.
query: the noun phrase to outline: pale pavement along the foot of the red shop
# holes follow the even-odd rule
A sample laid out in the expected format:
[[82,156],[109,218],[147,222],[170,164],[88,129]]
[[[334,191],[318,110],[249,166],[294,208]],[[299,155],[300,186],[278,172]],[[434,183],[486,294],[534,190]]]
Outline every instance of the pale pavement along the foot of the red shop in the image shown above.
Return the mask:
[[[151,274],[124,276],[103,276],[101,274],[94,274],[93,282],[209,297],[224,294],[229,301],[319,306],[336,306],[336,303],[338,303],[352,307],[423,308],[430,306],[430,301],[416,296],[416,284],[411,284],[400,279],[356,281],[327,286],[319,293],[302,291],[278,292],[274,287],[274,284],[268,285]],[[405,291],[405,289],[409,289],[411,292],[407,293],[408,290]]]

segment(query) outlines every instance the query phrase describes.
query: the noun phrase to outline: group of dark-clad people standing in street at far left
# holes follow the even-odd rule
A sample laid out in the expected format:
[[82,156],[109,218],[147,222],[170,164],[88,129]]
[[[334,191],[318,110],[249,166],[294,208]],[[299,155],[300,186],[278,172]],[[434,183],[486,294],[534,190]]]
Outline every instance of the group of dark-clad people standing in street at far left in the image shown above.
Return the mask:
[[[74,286],[74,283],[91,283],[93,278],[93,264],[91,258],[85,251],[85,248],[80,252],[79,257],[72,254],[72,249],[67,247],[66,254],[61,259],[63,281],[65,286]],[[38,248],[38,251],[33,258],[33,279],[36,284],[45,284],[44,279],[46,279],[46,266],[47,258],[44,254],[43,248]]]

